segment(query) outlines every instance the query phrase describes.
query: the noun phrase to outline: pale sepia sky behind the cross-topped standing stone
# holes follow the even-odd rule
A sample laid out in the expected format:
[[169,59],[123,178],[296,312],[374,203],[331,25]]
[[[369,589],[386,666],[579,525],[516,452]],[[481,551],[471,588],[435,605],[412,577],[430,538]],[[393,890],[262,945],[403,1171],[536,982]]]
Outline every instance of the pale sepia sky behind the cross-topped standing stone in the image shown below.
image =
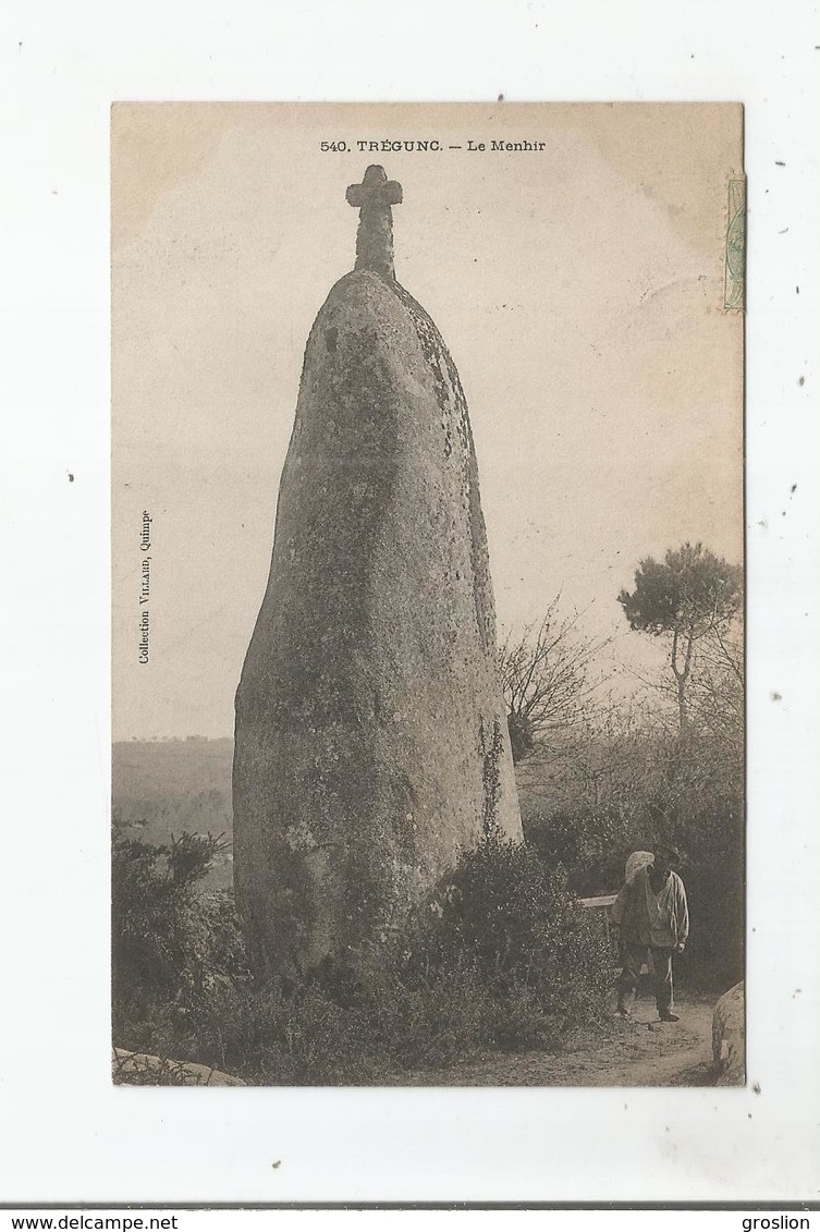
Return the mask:
[[[741,132],[735,105],[117,106],[115,738],[233,731],[304,344],[352,269],[345,188],[371,161],[404,186],[396,277],[469,403],[500,628],[561,590],[644,667],[617,604],[639,559],[687,538],[741,559],[742,318],[723,309]],[[463,148],[356,148],[382,138]]]

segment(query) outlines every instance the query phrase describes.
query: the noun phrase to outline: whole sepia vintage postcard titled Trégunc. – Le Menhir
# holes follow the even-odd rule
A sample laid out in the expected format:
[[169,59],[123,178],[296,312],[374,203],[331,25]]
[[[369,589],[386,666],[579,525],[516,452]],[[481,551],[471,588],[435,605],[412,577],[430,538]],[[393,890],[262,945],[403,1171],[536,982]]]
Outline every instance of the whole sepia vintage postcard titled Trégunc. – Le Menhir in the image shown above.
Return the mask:
[[115,1082],[744,1084],[745,221],[736,103],[113,107]]

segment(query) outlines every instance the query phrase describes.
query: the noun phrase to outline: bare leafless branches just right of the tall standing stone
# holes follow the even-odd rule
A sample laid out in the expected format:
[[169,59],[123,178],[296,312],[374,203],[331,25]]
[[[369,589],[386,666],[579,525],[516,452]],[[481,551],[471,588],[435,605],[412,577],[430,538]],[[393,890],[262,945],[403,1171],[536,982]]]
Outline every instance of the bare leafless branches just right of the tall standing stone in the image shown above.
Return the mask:
[[565,753],[586,716],[600,680],[591,664],[609,639],[596,641],[579,627],[584,614],[560,614],[560,594],[541,623],[507,634],[499,652],[513,761],[538,749]]

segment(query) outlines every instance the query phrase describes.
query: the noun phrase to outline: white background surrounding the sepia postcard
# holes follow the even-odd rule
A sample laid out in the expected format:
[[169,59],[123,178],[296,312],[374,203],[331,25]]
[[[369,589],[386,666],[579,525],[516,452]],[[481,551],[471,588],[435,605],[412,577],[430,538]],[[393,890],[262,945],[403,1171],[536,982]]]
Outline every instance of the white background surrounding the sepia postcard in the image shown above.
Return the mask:
[[[4,5],[0,1200],[816,1200],[818,46],[803,0]],[[760,1094],[113,1089],[110,103],[501,92],[746,103]]]

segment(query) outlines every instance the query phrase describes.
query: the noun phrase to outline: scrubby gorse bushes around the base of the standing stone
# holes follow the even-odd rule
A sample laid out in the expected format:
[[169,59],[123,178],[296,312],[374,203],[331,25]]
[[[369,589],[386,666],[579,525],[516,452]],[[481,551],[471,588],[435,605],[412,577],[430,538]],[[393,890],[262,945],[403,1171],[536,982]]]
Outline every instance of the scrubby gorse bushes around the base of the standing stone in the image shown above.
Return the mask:
[[254,1083],[367,1083],[483,1048],[554,1047],[602,1013],[598,922],[526,845],[485,839],[378,951],[266,986],[247,970],[231,896],[202,890],[217,845],[117,844],[123,1047]]

